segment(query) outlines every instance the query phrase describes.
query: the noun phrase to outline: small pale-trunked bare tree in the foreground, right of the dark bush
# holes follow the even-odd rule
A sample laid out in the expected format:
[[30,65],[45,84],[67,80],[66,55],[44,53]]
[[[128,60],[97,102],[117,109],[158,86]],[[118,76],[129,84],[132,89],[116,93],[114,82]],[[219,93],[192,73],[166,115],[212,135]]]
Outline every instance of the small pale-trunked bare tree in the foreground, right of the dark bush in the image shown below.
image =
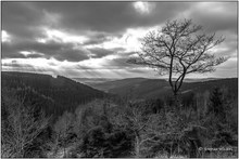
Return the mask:
[[[138,107],[128,106],[118,115],[111,116],[111,122],[123,129],[130,128],[134,132],[134,156],[142,157],[142,149],[146,149],[144,144],[156,137],[155,127],[159,121],[158,116],[144,115]],[[152,127],[153,125],[153,127]],[[153,131],[152,131],[153,130]]]

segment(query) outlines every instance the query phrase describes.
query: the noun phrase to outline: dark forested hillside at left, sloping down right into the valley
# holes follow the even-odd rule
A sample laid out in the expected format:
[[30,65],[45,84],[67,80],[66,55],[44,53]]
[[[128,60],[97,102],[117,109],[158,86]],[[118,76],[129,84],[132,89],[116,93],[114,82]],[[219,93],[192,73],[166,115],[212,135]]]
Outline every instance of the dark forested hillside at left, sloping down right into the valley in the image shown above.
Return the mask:
[[48,115],[61,115],[79,104],[106,96],[106,93],[62,76],[2,71],[1,80],[3,90],[14,90],[25,102],[42,107]]

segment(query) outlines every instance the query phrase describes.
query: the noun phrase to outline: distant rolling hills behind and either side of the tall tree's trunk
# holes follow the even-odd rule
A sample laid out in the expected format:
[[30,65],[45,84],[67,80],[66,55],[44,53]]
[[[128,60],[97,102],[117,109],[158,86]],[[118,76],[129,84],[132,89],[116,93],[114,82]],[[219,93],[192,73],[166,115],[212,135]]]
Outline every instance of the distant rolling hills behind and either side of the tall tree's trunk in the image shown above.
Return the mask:
[[[238,79],[190,79],[181,87],[181,93],[211,91],[215,87],[227,88],[237,95]],[[164,79],[129,78],[116,81],[92,83],[91,87],[108,93],[130,98],[158,98],[172,93],[168,82]]]

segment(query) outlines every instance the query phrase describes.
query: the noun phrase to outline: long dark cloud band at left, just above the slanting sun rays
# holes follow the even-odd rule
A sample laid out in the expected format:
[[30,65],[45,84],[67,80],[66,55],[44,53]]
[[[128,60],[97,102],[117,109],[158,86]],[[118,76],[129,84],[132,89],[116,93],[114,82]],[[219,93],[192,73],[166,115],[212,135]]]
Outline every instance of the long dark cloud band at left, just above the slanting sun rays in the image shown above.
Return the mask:
[[[89,56],[93,58],[100,58],[110,54],[116,54],[123,52],[123,48],[103,49],[92,48],[83,49],[78,45],[74,49],[74,43],[62,43],[56,41],[48,41],[46,43],[36,41],[18,41],[16,43],[2,43],[2,58],[27,58],[27,57],[54,57],[59,61],[80,62],[89,59]],[[21,51],[33,52],[29,55],[23,55]],[[36,52],[36,54],[34,54]]]

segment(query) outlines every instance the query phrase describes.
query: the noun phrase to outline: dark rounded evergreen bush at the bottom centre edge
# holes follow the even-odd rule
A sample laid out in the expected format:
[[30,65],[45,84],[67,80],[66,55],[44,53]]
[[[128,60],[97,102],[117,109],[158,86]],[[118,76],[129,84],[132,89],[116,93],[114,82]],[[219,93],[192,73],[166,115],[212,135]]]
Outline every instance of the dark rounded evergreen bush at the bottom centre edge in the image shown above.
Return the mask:
[[83,143],[78,147],[83,157],[124,157],[127,156],[133,148],[130,133],[126,130],[115,130],[109,127],[109,121],[101,118],[97,125],[90,129],[83,137]]

